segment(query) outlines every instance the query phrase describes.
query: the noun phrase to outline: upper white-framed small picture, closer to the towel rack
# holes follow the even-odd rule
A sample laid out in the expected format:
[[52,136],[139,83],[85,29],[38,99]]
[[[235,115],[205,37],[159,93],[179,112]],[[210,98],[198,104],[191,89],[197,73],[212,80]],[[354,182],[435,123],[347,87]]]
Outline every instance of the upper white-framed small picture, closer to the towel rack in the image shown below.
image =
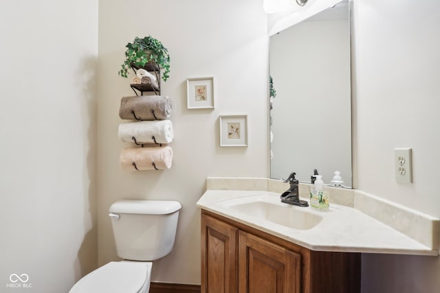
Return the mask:
[[186,79],[188,109],[214,108],[214,78]]

